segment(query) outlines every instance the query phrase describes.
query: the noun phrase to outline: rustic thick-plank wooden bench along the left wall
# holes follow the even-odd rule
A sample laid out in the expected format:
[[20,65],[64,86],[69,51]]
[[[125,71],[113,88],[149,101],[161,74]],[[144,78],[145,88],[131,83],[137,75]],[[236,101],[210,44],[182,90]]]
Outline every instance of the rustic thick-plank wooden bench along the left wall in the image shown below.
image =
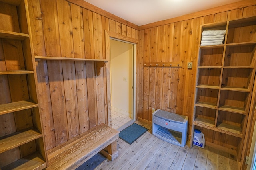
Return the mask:
[[119,131],[100,124],[80,135],[47,151],[49,167],[47,170],[75,169],[92,156],[101,152],[109,160],[118,156],[117,143]]

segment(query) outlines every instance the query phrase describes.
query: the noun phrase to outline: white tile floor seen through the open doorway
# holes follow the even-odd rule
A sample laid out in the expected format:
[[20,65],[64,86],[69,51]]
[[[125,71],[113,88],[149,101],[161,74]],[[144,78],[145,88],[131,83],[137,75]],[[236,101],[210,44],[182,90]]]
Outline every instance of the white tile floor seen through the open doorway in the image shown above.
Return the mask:
[[114,129],[120,129],[121,126],[128,123],[131,119],[131,117],[127,115],[123,115],[122,113],[117,113],[115,111],[111,111],[112,116],[112,127]]

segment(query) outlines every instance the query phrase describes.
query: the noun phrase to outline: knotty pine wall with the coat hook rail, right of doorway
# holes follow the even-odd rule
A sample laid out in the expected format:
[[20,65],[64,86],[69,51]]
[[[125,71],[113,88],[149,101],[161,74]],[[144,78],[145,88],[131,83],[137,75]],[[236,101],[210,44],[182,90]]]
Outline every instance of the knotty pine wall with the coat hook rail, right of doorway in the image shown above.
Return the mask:
[[[167,21],[140,27],[143,28],[140,29],[139,37],[140,63],[182,62],[182,68],[144,67],[140,64],[139,88],[143,90],[138,94],[138,118],[141,121],[152,121],[152,108],[185,115],[189,117],[188,134],[190,135],[200,25],[256,15],[255,5],[239,8],[233,6],[233,8],[226,11],[222,7],[219,8],[221,12],[213,13],[218,9],[214,8],[213,14],[210,15],[204,16],[211,12],[207,10],[201,12],[200,17],[193,17],[190,14],[186,20],[177,21],[178,19],[174,18],[173,23],[170,19],[170,23],[164,25],[163,22]],[[186,17],[180,17],[183,18]],[[188,62],[192,62],[192,69],[187,68]]]

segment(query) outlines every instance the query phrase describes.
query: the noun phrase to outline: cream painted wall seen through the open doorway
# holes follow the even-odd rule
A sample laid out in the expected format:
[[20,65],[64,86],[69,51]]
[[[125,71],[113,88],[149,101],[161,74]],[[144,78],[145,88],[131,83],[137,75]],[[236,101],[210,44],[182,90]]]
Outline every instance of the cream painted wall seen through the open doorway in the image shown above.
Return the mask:
[[131,114],[133,104],[133,44],[110,39],[112,109]]

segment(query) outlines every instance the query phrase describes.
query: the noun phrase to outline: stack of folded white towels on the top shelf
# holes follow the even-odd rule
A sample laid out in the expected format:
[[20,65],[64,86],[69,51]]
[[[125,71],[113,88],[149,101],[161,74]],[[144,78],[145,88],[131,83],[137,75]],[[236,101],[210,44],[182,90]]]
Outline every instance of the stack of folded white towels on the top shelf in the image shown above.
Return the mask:
[[205,30],[202,32],[201,46],[223,44],[226,30]]

